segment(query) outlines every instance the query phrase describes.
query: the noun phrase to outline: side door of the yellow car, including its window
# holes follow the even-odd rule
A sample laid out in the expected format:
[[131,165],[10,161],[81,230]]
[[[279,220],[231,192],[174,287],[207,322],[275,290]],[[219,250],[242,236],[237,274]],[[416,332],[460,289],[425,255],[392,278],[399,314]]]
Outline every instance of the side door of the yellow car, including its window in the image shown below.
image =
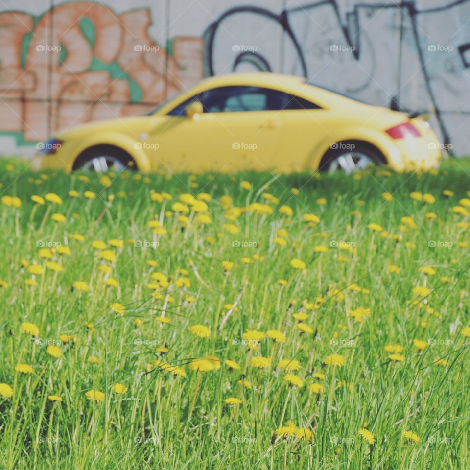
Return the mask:
[[[204,113],[190,119],[185,109],[194,100],[202,103]],[[255,86],[217,87],[189,98],[149,133],[155,167],[272,169],[282,139],[282,104],[282,92]]]

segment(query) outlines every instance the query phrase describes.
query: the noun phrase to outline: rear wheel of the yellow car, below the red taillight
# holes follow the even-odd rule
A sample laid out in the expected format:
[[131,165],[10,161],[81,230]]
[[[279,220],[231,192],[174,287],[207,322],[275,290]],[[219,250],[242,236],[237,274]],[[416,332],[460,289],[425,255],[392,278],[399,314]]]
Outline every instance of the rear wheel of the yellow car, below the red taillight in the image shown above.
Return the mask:
[[370,164],[383,165],[383,155],[372,145],[354,142],[333,144],[320,162],[320,171],[352,173]]

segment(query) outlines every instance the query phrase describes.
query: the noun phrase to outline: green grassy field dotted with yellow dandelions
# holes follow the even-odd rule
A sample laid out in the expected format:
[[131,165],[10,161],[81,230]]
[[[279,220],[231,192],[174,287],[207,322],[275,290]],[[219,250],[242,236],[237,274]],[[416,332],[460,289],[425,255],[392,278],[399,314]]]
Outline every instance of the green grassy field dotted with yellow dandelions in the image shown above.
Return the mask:
[[0,168],[0,469],[470,468],[470,161]]

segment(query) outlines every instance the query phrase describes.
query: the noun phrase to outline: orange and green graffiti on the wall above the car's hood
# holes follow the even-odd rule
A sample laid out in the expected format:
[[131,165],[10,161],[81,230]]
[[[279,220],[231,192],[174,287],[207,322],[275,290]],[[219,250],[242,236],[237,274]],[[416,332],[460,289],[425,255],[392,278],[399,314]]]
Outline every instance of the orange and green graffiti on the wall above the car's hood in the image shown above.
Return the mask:
[[149,37],[151,22],[146,8],[117,15],[86,1],[40,18],[1,13],[0,132],[42,141],[82,122],[142,114],[200,80],[203,41],[174,38],[170,54]]

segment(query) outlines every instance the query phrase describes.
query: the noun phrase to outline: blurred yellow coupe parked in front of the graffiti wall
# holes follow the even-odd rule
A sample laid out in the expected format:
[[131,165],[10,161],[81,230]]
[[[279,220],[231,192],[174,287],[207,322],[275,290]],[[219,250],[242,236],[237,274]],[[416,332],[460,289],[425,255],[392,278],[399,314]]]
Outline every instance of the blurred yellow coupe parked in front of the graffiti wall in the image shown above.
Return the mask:
[[342,170],[439,164],[442,146],[423,118],[371,106],[304,78],[210,77],[147,116],[95,121],[41,145],[36,167],[143,172]]

